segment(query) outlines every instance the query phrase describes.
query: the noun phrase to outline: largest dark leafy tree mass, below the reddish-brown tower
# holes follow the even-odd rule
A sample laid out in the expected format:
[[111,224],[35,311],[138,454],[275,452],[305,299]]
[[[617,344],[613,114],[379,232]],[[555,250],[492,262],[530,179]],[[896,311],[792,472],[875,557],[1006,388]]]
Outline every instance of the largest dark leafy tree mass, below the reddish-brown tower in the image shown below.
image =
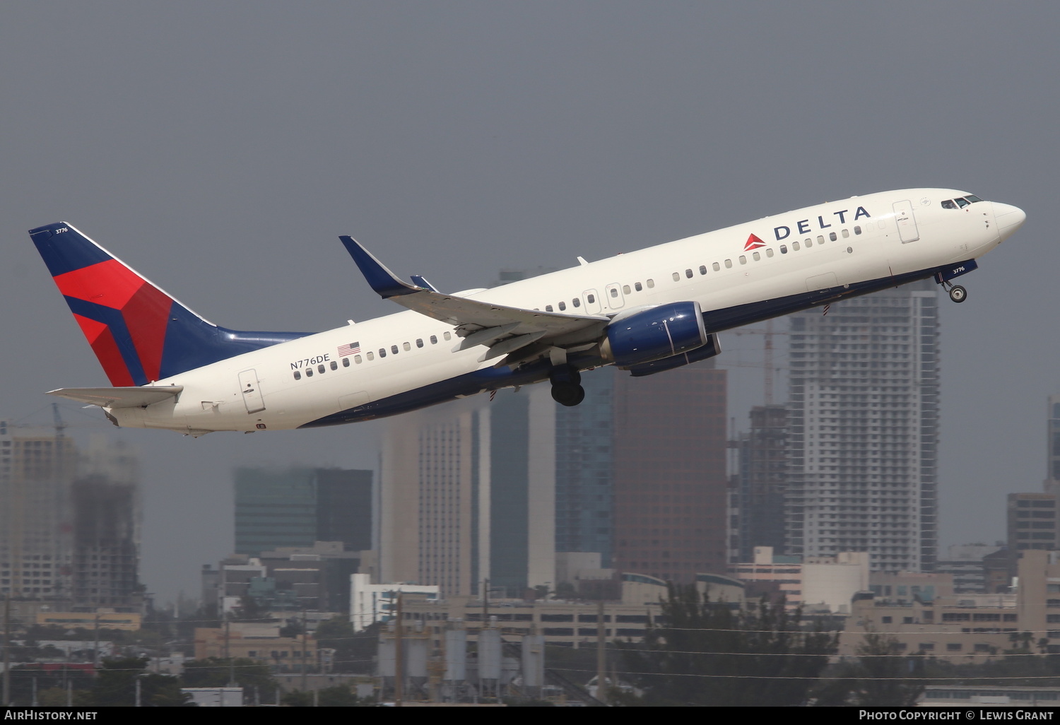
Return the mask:
[[782,600],[738,611],[671,585],[661,608],[643,644],[623,648],[644,705],[801,705],[836,650],[834,633],[800,629]]

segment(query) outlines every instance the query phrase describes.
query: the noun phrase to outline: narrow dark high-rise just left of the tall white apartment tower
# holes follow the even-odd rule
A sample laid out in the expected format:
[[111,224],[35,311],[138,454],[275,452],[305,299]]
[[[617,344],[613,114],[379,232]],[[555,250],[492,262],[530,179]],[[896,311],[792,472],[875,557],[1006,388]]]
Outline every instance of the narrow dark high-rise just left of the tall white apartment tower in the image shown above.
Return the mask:
[[784,491],[788,485],[788,408],[750,409],[750,430],[736,441],[737,561],[753,561],[757,547],[784,553]]

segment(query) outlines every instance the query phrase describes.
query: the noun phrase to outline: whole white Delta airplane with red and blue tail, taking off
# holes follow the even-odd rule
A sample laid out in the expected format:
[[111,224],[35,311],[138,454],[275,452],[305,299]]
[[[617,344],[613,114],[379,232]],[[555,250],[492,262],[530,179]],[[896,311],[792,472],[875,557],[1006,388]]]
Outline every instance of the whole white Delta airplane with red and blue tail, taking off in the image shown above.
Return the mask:
[[317,334],[202,319],[67,223],[30,230],[109,388],[51,394],[119,426],[190,436],[352,423],[550,381],[578,405],[581,372],[654,375],[718,355],[724,330],[934,278],[953,280],[1023,224],[953,189],[799,209],[493,289],[438,291],[339,237],[372,288],[407,308]]

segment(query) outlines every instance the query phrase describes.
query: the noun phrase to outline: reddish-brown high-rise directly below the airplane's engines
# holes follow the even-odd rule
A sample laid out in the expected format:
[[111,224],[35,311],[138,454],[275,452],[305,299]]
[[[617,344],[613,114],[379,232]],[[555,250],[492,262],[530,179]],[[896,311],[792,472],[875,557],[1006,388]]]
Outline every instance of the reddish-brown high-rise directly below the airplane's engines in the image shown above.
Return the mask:
[[614,395],[613,566],[681,584],[725,573],[725,371],[618,374]]

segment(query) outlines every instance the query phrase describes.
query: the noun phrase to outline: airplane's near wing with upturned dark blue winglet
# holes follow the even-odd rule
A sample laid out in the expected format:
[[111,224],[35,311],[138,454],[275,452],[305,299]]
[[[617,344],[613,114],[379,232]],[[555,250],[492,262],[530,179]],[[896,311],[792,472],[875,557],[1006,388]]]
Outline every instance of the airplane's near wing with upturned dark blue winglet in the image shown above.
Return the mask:
[[[564,342],[584,342],[596,339],[611,321],[603,315],[566,315],[562,313],[525,310],[494,304],[480,300],[444,295],[432,287],[408,284],[387,269],[375,257],[352,236],[340,236],[347,251],[357,263],[368,284],[385,300],[393,300],[409,310],[457,325],[457,334],[464,337],[462,348],[474,344],[493,346],[512,337],[526,338],[526,343],[547,342],[564,338]],[[417,278],[413,278],[417,279]],[[423,278],[418,278],[423,280]],[[426,282],[426,280],[423,280]],[[428,283],[429,284],[429,283]],[[492,335],[487,334],[494,333]],[[475,340],[473,342],[473,340]],[[511,349],[512,342],[508,342]],[[522,347],[522,346],[519,346]]]

